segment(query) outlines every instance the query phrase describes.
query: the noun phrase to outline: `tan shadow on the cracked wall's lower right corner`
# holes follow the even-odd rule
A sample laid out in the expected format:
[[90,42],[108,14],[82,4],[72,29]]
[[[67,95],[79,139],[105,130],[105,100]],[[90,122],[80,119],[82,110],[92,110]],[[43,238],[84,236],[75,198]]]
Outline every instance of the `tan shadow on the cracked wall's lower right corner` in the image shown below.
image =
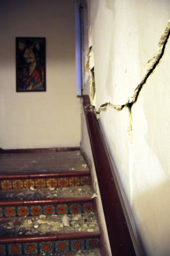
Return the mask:
[[170,180],[134,198],[137,230],[147,256],[170,255]]

